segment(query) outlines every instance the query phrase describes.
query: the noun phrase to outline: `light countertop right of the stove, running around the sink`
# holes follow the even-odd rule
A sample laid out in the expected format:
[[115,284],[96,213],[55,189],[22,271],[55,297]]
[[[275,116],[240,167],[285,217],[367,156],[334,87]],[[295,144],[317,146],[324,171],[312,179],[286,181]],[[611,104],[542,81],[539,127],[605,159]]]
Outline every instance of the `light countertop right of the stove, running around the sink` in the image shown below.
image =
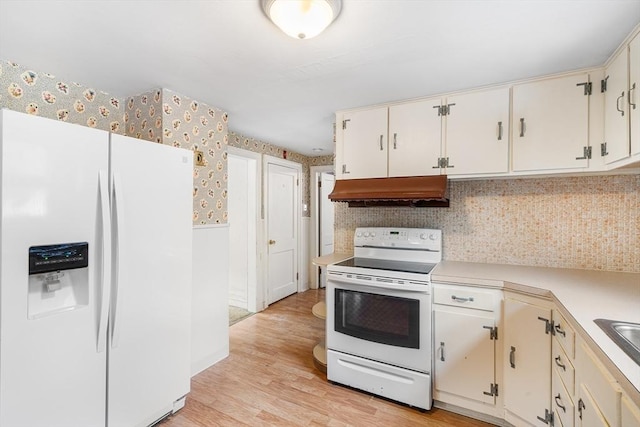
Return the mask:
[[640,366],[593,322],[640,323],[640,274],[443,261],[431,281],[501,288],[553,301],[629,397],[640,402]]

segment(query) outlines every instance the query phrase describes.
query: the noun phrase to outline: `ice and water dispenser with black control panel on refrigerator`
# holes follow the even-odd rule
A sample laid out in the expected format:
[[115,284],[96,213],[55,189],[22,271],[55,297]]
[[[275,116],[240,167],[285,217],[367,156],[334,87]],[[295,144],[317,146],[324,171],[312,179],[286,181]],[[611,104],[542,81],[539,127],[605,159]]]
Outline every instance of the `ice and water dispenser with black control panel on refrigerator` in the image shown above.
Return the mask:
[[30,247],[29,318],[88,305],[88,266],[87,242]]

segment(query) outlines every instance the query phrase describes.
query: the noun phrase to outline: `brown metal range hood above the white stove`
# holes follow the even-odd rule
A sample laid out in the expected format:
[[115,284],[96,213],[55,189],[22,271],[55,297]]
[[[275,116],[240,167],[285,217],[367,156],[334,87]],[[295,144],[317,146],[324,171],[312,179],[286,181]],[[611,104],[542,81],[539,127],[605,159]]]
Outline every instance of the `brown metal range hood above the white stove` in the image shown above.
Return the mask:
[[445,197],[446,190],[446,175],[340,179],[336,181],[329,199],[332,202],[348,202],[349,207],[447,208],[449,199]]

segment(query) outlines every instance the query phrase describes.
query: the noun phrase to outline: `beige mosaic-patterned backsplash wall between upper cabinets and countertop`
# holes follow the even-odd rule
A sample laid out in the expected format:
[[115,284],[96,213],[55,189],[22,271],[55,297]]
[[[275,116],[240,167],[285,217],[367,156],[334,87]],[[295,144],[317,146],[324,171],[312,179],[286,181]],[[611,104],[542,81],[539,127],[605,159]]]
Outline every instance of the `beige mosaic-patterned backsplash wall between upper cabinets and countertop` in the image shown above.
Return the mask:
[[449,181],[449,208],[335,204],[335,250],[356,227],[443,230],[446,260],[640,272],[640,176]]

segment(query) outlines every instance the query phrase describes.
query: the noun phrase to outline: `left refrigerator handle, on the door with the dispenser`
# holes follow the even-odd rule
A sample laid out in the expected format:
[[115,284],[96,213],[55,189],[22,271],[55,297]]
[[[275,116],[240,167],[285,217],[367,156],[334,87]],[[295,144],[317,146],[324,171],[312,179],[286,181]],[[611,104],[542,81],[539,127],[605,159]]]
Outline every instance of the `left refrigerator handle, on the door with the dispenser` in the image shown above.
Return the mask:
[[109,207],[109,177],[105,171],[98,172],[98,192],[100,193],[100,254],[97,257],[100,263],[98,271],[100,276],[96,280],[96,298],[100,298],[96,304],[99,310],[98,339],[96,351],[102,353],[106,348],[107,328],[109,319],[109,296],[111,290],[111,209]]

